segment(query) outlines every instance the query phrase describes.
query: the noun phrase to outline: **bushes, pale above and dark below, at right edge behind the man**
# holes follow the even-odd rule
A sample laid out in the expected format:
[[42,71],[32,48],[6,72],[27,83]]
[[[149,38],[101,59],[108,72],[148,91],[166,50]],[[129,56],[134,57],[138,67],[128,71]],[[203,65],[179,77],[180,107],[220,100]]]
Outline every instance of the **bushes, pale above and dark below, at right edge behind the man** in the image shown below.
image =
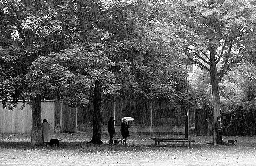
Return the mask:
[[255,66],[243,62],[220,84],[222,114],[228,135],[254,135],[256,122]]

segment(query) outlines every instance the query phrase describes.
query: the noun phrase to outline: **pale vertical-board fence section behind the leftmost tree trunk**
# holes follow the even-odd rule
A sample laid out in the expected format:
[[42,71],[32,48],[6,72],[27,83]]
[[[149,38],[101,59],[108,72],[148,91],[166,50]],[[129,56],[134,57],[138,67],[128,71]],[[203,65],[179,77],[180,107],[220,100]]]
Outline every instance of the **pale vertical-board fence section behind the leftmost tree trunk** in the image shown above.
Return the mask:
[[[14,110],[4,109],[0,104],[0,133],[31,133],[31,106],[26,104],[20,109],[22,102]],[[42,102],[42,121],[46,118],[54,132],[54,101]]]

